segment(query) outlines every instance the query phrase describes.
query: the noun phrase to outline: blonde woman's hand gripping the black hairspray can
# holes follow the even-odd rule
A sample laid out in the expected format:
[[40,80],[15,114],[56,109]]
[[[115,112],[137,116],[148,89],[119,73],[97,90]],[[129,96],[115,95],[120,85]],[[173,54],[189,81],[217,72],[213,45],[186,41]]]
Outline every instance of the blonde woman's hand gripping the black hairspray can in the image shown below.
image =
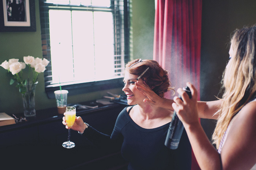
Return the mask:
[[192,98],[189,98],[188,94],[179,88],[177,92],[180,94],[183,101],[176,96],[173,98],[175,103],[172,104],[172,107],[184,126],[199,122],[197,111],[197,90],[195,86],[189,82],[187,83],[187,86],[191,90]]

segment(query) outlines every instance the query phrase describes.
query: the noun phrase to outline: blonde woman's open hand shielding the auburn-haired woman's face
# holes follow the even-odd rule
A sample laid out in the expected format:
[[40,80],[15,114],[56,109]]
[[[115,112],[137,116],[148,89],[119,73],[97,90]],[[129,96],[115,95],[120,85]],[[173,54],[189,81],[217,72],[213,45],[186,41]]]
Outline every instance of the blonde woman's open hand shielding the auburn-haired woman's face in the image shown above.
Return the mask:
[[146,82],[135,82],[136,89],[138,89],[140,92],[142,92],[147,98],[145,98],[143,101],[152,107],[161,107],[165,109],[169,109],[173,111],[172,103],[173,100],[162,98],[158,96],[147,84]]

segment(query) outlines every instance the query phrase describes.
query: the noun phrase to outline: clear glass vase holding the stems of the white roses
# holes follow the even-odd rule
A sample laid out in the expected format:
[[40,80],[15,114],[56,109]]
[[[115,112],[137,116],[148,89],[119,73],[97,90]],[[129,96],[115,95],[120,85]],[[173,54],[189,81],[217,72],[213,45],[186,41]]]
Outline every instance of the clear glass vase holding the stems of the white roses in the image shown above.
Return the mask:
[[35,116],[35,87],[38,82],[27,83],[26,93],[22,94],[23,107],[24,107],[24,116],[32,117]]

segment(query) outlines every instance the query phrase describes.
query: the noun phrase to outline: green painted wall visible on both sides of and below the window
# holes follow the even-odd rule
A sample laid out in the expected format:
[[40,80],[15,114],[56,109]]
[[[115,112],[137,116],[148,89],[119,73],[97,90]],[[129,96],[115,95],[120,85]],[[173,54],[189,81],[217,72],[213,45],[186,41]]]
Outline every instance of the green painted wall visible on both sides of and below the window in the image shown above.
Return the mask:
[[[154,0],[133,0],[133,56],[152,58],[154,32]],[[0,32],[0,63],[11,58],[23,61],[23,56],[31,55],[42,58],[39,4],[35,0],[36,32]],[[143,44],[143,46],[141,46]],[[136,54],[136,55],[134,55]],[[14,85],[9,85],[6,70],[0,68],[0,112],[9,115],[23,112],[22,96]],[[36,109],[56,106],[54,99],[48,99],[44,90],[44,75],[41,73],[35,92]],[[115,94],[123,93],[120,89],[107,90]],[[107,91],[98,91],[76,96],[68,96],[68,103],[94,100],[107,95]]]

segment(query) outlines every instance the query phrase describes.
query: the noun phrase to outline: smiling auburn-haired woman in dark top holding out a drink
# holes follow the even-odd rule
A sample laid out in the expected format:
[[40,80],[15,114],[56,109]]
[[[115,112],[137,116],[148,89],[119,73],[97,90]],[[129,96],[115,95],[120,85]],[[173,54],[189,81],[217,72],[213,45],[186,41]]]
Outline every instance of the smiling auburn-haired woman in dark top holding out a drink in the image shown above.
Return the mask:
[[123,80],[123,91],[130,106],[125,107],[118,115],[111,135],[98,132],[79,116],[72,127],[68,127],[65,117],[63,124],[68,129],[79,131],[98,146],[110,149],[112,145],[120,146],[130,170],[191,170],[191,145],[186,132],[183,132],[176,150],[165,146],[173,112],[144,103],[147,96],[136,89],[136,81],[146,82],[159,97],[164,97],[165,92],[173,90],[170,88],[168,72],[156,61],[135,59],[125,66]]

